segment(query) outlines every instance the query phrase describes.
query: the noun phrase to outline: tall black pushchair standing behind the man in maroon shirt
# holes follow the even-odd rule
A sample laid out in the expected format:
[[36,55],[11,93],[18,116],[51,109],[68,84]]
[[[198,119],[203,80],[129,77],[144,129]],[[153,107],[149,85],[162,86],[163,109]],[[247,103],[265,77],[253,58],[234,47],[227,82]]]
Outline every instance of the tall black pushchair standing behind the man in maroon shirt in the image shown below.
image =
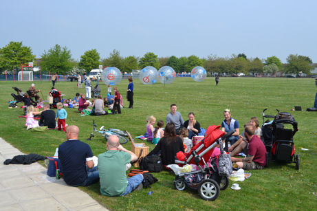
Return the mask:
[[[276,116],[265,115],[266,110],[263,110],[262,137],[267,151],[267,161],[295,163],[295,168],[298,170],[300,157],[295,155],[293,142],[293,137],[298,131],[297,122],[290,113],[279,112],[276,109],[278,111]],[[265,122],[265,118],[274,118],[274,120]],[[287,129],[287,126],[291,126],[292,129]]]

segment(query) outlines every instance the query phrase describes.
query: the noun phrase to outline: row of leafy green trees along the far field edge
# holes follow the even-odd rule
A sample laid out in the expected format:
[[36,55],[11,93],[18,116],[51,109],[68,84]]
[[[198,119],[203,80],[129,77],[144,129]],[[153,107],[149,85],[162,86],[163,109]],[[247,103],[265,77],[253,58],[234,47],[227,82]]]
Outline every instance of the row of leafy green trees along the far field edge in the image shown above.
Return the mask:
[[[0,71],[12,69],[12,66],[34,61],[31,47],[23,46],[22,42],[10,42],[0,49]],[[54,45],[47,52],[44,51],[36,65],[42,69],[58,74],[83,73],[98,68],[99,65],[118,67],[121,71],[131,72],[133,69],[142,69],[153,66],[156,69],[168,65],[177,72],[189,72],[195,66],[203,66],[206,71],[218,74],[276,74],[283,71],[285,74],[310,74],[314,69],[308,56],[290,54],[287,63],[281,63],[276,56],[260,58],[247,58],[245,54],[238,54],[226,58],[210,55],[208,58],[197,56],[176,56],[158,58],[153,52],[144,54],[142,58],[136,56],[123,57],[116,49],[107,58],[100,58],[96,49],[91,49],[80,56],[80,60],[72,59],[72,54],[67,47]]]

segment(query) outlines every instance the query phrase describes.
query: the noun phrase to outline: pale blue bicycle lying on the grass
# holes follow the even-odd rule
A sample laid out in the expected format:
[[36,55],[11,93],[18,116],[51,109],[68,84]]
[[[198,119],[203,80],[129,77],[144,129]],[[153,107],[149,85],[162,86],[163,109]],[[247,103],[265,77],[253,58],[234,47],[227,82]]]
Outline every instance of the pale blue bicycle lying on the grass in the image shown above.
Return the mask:
[[99,130],[97,130],[97,125],[95,124],[95,120],[93,120],[93,130],[90,133],[90,137],[87,138],[87,141],[91,141],[91,137],[95,137],[94,132],[102,134],[105,137],[105,140],[108,140],[110,135],[117,135],[119,138],[120,144],[126,144],[128,142],[128,133],[124,131],[120,131],[119,129],[105,129],[105,126],[101,126]]

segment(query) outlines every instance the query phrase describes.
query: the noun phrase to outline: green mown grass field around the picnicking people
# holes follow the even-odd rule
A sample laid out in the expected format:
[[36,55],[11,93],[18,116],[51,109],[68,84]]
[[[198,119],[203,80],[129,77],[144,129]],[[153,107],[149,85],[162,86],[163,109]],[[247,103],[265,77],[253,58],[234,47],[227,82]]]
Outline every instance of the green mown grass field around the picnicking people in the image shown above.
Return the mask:
[[[36,133],[26,131],[22,109],[8,109],[11,87],[23,90],[31,82],[0,82],[1,115],[0,137],[19,148],[23,153],[53,155],[55,148],[65,141],[65,133],[46,131]],[[35,82],[45,98],[52,87],[52,82]],[[171,85],[157,83],[152,86],[142,85],[135,79],[134,109],[122,109],[121,115],[84,116],[77,109],[67,109],[67,124],[76,124],[80,128],[80,140],[87,142],[97,155],[106,150],[105,139],[96,135],[91,142],[86,141],[91,133],[92,120],[98,126],[118,128],[129,131],[133,137],[145,132],[146,116],[154,115],[157,120],[164,120],[172,103],[177,104],[184,120],[193,111],[201,126],[207,129],[212,124],[221,124],[223,110],[230,109],[232,118],[239,120],[241,126],[256,116],[262,123],[262,111],[275,115],[275,109],[287,111],[298,122],[298,133],[294,136],[296,153],[300,155],[300,170],[294,164],[276,164],[269,168],[252,170],[250,179],[239,182],[241,190],[231,190],[230,186],[221,191],[215,201],[204,201],[197,191],[178,191],[173,187],[174,175],[165,171],[154,173],[159,179],[151,188],[132,192],[127,197],[105,197],[99,193],[99,184],[82,188],[91,197],[110,210],[315,210],[317,197],[317,112],[291,111],[294,105],[303,109],[314,106],[316,87],[311,78],[220,78],[218,87],[214,78],[204,82],[194,82],[191,78],[177,78]],[[118,89],[125,98],[128,81],[122,80]],[[101,83],[102,93],[106,86]],[[58,82],[56,88],[64,93],[65,98],[74,98],[76,92],[84,93],[85,88],[77,89],[76,82]],[[80,91],[79,91],[80,90]],[[21,104],[22,105],[22,104]],[[124,100],[127,107],[129,102]],[[242,131],[242,130],[241,130]],[[138,141],[139,142],[139,141]],[[148,144],[150,150],[152,144]],[[124,147],[131,148],[129,144]],[[301,148],[309,148],[302,151]],[[41,162],[43,164],[43,162]],[[152,195],[147,195],[153,191]],[[314,202],[315,201],[315,202]]]

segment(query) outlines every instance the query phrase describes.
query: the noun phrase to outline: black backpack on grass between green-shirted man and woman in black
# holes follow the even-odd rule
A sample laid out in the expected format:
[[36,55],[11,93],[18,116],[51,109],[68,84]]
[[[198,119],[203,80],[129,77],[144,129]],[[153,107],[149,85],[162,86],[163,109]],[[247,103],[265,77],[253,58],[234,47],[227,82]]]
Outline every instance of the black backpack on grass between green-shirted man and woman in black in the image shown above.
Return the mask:
[[140,159],[140,168],[151,173],[159,173],[163,169],[162,159],[157,155],[148,155]]

